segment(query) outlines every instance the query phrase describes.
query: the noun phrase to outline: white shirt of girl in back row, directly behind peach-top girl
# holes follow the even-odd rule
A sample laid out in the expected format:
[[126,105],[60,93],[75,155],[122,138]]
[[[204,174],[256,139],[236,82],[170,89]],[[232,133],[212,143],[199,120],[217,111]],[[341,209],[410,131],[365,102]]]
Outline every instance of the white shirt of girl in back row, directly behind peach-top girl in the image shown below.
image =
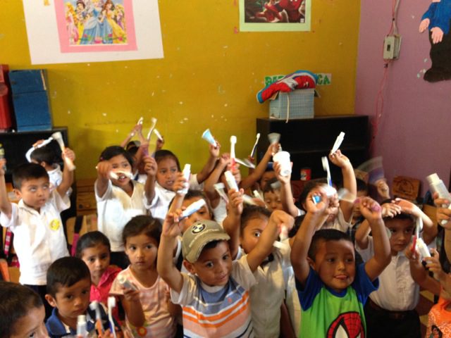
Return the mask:
[[122,231],[125,224],[134,216],[147,215],[147,197],[144,185],[131,180],[133,184],[132,196],[128,196],[120,187],[108,181],[104,196],[97,192],[97,181],[94,190],[97,201],[97,227],[110,240],[111,251],[124,251]]

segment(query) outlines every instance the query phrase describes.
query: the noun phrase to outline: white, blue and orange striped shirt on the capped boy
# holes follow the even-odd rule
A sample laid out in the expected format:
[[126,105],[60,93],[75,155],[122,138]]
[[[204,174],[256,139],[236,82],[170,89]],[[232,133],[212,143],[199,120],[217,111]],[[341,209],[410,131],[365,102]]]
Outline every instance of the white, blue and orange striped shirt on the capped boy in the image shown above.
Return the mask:
[[225,286],[209,287],[182,273],[180,294],[171,289],[173,303],[183,307],[184,337],[254,337],[249,289],[256,281],[247,256],[232,264]]

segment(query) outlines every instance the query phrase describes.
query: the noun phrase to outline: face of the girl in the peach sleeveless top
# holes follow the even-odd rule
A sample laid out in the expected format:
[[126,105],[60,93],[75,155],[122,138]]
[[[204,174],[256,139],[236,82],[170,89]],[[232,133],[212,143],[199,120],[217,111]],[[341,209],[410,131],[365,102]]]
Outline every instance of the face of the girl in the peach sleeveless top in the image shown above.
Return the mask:
[[147,234],[128,237],[125,243],[125,253],[134,271],[152,270],[156,268],[156,253],[158,244]]

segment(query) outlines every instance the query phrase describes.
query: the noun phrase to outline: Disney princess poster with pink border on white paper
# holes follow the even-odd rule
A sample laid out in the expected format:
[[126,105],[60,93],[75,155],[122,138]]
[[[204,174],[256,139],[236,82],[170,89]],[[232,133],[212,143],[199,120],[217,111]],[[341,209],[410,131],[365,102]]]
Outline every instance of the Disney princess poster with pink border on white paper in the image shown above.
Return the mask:
[[157,0],[23,0],[32,64],[162,58]]

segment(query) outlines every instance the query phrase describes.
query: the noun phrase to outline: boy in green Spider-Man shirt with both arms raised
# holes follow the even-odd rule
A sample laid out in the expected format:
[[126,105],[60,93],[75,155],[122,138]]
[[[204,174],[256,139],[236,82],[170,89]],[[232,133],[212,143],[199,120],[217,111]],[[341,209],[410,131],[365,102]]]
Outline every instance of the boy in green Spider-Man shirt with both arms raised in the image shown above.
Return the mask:
[[[313,196],[321,196],[321,201],[315,204]],[[320,189],[307,196],[307,214],[291,249],[302,306],[299,337],[366,337],[363,306],[390,263],[390,246],[381,207],[368,197],[359,203],[371,226],[375,250],[369,261],[356,267],[354,245],[347,234],[316,231],[330,213],[326,192]]]

